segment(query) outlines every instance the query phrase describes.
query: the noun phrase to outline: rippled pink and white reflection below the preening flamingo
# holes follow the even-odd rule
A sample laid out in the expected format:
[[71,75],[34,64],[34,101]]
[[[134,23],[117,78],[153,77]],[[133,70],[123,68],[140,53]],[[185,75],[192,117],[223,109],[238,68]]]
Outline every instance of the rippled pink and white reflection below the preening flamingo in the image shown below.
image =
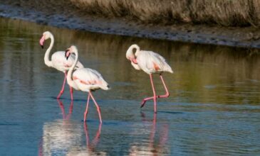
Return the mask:
[[[147,119],[145,113],[142,112],[141,117],[143,123],[152,123],[149,140],[147,144],[132,145],[130,155],[162,155],[167,153],[165,144],[167,143],[169,126],[167,124],[160,124],[159,128],[157,127],[157,113],[154,113],[152,120]],[[159,136],[156,133],[159,133]],[[157,138],[159,138],[159,141],[157,141]]]

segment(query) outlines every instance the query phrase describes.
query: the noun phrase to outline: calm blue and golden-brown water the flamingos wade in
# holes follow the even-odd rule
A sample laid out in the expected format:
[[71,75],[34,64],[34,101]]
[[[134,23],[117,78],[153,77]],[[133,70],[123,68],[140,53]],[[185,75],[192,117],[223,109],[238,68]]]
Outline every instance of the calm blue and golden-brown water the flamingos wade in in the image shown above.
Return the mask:
[[[259,155],[260,55],[257,50],[174,43],[38,26],[0,19],[0,155]],[[53,51],[77,45],[85,67],[97,69],[110,91],[95,91],[103,124],[87,94],[66,86],[46,67],[38,40],[53,32]],[[49,42],[46,42],[48,45]],[[168,99],[152,95],[149,77],[125,59],[132,43],[164,56]],[[164,89],[155,75],[155,87]]]

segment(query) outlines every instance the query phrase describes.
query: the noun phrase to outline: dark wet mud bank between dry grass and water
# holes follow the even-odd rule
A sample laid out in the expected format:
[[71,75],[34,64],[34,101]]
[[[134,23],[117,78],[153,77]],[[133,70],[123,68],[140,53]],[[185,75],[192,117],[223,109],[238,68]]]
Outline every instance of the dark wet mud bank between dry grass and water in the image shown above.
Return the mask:
[[59,28],[87,30],[96,33],[130,35],[189,43],[260,48],[259,28],[194,25],[191,23],[152,24],[129,18],[90,15],[71,1],[11,1],[0,4],[0,16],[19,18]]

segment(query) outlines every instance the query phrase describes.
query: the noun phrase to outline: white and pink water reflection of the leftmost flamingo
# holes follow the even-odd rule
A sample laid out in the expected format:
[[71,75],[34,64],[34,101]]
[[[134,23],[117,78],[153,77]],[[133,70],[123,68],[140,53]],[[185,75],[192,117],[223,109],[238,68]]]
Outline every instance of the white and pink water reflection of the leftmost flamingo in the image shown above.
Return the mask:
[[63,102],[57,101],[63,118],[44,123],[38,155],[53,155],[57,151],[68,152],[71,148],[80,146],[78,142],[82,140],[82,125],[70,120],[73,101],[71,101],[67,114]]

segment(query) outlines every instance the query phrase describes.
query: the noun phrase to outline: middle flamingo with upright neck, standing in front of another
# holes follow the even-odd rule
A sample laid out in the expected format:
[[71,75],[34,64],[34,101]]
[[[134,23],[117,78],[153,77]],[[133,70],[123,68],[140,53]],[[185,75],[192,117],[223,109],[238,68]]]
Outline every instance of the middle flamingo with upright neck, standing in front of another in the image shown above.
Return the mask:
[[77,69],[75,72],[73,72],[73,70],[75,69],[77,62],[78,62],[78,49],[76,48],[75,45],[71,45],[71,47],[66,50],[66,53],[65,53],[66,58],[68,59],[68,57],[72,53],[74,53],[76,55],[76,60],[73,63],[73,65],[70,67],[70,69],[68,70],[67,83],[68,83],[68,85],[73,87],[73,89],[88,92],[88,101],[87,101],[85,113],[84,113],[84,122],[85,122],[86,116],[88,114],[88,103],[89,103],[90,96],[91,96],[91,99],[93,99],[95,106],[97,107],[100,123],[102,123],[100,107],[98,106],[97,102],[95,101],[94,96],[91,93],[91,91],[95,91],[97,89],[103,89],[103,90],[110,89],[108,82],[105,82],[105,80],[103,79],[101,74],[94,69],[80,68],[80,69]]

